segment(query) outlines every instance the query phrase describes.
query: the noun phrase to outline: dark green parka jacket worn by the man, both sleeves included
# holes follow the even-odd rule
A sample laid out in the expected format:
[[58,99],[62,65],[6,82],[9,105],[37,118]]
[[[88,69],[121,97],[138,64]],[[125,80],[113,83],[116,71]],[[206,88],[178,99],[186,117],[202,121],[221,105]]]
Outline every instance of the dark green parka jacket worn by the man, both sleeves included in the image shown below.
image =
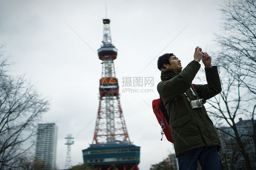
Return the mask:
[[[191,85],[200,64],[193,60],[179,74],[162,71],[161,82],[157,86],[160,98],[169,115],[169,125],[176,156],[198,147],[217,145],[220,140],[205,107],[192,109],[189,100],[210,99],[221,91],[217,66],[205,68],[207,85]],[[168,80],[168,81],[164,81]],[[191,87],[191,89],[190,89]],[[193,95],[192,91],[195,95]]]

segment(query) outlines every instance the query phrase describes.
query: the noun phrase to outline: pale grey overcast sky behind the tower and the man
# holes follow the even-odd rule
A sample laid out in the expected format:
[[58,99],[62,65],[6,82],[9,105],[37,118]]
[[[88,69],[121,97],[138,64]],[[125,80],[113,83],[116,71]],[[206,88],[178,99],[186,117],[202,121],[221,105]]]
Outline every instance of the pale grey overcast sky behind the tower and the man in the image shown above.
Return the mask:
[[[160,141],[160,126],[151,108],[152,100],[159,98],[157,59],[174,53],[185,67],[199,45],[214,60],[214,33],[220,30],[218,9],[223,4],[224,0],[0,0],[0,44],[5,44],[2,50],[10,55],[9,61],[15,62],[10,74],[26,74],[51,100],[51,110],[40,123],[56,122],[59,128],[58,168],[65,166],[67,134],[76,137],[72,165],[83,162],[82,150],[92,143],[103,18],[111,20],[112,41],[118,49],[114,63],[128,134],[141,147],[139,168],[149,170],[174,153],[166,138]],[[128,77],[153,77],[154,85],[127,87]],[[128,92],[135,89],[150,92]]]

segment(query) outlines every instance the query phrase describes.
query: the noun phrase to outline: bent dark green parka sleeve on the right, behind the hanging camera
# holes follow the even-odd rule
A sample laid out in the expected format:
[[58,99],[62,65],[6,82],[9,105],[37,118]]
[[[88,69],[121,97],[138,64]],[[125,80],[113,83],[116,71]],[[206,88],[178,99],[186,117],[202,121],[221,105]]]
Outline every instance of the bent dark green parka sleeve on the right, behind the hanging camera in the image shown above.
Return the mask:
[[217,66],[205,68],[207,85],[194,85],[201,99],[210,99],[221,92],[220,76]]

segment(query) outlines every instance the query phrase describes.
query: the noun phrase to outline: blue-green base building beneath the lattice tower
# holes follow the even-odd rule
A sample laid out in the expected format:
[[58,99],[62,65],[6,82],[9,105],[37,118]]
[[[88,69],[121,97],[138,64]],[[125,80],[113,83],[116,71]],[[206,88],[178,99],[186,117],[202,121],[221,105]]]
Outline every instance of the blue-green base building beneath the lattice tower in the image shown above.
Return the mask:
[[82,153],[84,164],[96,170],[139,170],[140,147],[128,141],[91,144]]

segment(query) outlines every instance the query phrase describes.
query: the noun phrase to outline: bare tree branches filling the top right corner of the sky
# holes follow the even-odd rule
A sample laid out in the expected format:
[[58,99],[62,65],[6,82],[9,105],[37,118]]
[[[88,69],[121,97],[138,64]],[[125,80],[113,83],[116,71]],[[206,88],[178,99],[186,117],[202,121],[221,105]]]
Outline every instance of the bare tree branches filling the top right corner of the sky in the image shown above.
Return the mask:
[[[222,6],[222,28],[218,37],[218,60],[251,93],[256,94],[256,1],[229,0]],[[240,76],[233,71],[241,68]]]

